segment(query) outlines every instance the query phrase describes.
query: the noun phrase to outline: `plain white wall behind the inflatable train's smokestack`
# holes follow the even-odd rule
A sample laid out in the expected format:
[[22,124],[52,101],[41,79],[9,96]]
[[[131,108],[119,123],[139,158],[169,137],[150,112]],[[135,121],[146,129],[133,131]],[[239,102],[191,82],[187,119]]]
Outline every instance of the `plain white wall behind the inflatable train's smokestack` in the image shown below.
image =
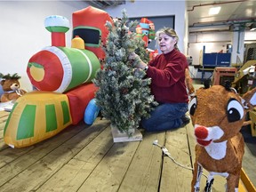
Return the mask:
[[50,32],[44,28],[44,19],[49,15],[68,18],[70,29],[66,44],[70,46],[72,13],[86,6],[87,3],[77,1],[0,1],[0,72],[18,73],[21,88],[31,91],[26,72],[28,60],[52,43]]

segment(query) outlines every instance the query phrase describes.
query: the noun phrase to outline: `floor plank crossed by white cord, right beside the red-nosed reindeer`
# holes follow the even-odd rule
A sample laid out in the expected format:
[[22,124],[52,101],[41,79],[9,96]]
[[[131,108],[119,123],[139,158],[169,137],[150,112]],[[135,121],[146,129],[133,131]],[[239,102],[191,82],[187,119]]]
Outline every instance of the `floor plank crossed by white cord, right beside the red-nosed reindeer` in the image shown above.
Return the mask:
[[189,170],[191,164],[186,128],[166,132],[165,148],[176,163],[170,157],[164,156],[160,191],[190,191],[192,171]]

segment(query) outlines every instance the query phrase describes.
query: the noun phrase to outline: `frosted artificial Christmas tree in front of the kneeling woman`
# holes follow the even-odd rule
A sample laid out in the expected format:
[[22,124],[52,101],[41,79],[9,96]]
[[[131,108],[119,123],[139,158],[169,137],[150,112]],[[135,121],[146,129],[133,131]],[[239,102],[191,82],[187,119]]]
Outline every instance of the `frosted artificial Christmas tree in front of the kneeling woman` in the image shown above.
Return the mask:
[[138,60],[128,60],[130,53],[136,52],[140,59],[148,61],[144,42],[129,31],[137,21],[128,22],[123,10],[123,18],[114,20],[108,28],[108,41],[105,47],[106,63],[93,80],[100,89],[96,92],[96,104],[102,116],[110,120],[120,132],[132,135],[140,125],[142,117],[148,117],[156,106],[154,96],[150,93],[151,79],[144,70],[136,68]]

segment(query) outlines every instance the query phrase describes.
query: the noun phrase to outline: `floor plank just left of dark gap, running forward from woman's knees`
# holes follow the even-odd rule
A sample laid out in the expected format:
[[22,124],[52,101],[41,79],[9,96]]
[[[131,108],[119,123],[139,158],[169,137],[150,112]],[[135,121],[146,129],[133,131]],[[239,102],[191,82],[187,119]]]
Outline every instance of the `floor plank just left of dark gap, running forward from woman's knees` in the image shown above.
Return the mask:
[[145,133],[118,192],[158,190],[163,157],[161,149],[153,145],[154,140],[164,143],[165,132]]

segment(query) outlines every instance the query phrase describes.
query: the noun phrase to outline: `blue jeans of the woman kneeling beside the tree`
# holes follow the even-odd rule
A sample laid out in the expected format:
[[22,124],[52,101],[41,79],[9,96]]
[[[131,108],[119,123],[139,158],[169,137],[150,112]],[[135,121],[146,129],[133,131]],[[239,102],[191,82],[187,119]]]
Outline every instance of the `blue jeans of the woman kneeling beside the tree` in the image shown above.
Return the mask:
[[188,103],[164,103],[151,112],[149,118],[141,121],[142,127],[148,132],[160,132],[180,127],[181,116],[188,111]]

